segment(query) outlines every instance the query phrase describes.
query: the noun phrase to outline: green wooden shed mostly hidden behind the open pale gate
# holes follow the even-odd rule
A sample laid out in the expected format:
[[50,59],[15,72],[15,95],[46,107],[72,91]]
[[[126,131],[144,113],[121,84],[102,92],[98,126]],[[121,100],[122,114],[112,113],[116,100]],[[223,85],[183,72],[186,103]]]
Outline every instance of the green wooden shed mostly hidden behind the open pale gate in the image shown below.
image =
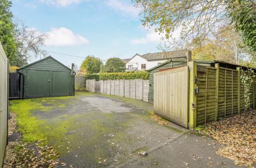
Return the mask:
[[[211,66],[212,61],[197,61],[198,64],[203,66]],[[172,68],[187,66],[187,58],[174,58],[170,59],[158,66],[152,67],[147,70],[149,73],[149,92],[148,92],[148,102],[154,102],[154,74],[155,72],[161,72],[170,70]]]

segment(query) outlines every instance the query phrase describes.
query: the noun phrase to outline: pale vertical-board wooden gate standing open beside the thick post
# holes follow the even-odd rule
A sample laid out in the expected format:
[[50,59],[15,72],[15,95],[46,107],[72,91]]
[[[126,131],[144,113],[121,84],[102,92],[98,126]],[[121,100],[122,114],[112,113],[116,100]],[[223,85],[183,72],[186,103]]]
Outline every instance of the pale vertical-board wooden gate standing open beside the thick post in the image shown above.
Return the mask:
[[188,127],[188,66],[154,74],[154,111],[163,118]]

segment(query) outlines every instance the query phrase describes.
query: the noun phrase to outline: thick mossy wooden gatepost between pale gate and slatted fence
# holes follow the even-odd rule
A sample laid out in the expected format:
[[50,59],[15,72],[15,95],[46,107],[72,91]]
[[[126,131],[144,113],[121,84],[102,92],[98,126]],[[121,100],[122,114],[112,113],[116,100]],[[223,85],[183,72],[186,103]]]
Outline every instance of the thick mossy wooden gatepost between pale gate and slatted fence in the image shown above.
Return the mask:
[[197,63],[195,61],[188,62],[189,66],[189,129],[194,130],[196,127],[196,79],[197,79]]

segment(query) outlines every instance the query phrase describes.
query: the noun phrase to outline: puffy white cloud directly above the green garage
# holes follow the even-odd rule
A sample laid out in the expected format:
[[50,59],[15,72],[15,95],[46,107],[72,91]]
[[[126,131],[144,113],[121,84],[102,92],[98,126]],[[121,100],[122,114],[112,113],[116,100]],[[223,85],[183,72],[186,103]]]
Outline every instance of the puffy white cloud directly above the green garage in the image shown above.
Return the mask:
[[65,27],[51,28],[51,31],[46,33],[48,35],[46,45],[48,46],[75,46],[89,43],[87,38],[73,33],[70,29]]

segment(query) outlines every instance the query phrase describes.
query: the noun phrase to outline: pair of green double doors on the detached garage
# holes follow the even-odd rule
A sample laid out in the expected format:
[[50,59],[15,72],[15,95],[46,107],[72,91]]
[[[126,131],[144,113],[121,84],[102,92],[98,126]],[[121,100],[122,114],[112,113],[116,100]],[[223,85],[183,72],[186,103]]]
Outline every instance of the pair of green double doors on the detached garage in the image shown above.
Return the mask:
[[28,70],[27,98],[69,96],[69,72]]

